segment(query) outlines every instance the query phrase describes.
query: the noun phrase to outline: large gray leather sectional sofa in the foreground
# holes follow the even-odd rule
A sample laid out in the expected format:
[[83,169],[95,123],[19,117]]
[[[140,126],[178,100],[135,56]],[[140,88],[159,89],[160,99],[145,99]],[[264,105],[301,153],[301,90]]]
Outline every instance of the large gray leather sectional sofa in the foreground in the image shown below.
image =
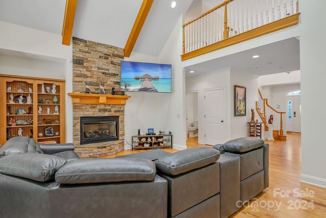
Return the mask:
[[151,161],[79,159],[72,144],[15,137],[0,148],[0,217],[228,217],[268,186],[257,140]]

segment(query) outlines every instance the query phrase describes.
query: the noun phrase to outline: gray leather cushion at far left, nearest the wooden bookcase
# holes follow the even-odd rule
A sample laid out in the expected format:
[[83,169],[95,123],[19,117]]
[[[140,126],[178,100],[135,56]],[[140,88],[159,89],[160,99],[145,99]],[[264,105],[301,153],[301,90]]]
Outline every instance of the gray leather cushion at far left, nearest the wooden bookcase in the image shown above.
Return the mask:
[[28,137],[13,137],[0,148],[0,157],[10,154],[26,153],[29,143],[30,138]]

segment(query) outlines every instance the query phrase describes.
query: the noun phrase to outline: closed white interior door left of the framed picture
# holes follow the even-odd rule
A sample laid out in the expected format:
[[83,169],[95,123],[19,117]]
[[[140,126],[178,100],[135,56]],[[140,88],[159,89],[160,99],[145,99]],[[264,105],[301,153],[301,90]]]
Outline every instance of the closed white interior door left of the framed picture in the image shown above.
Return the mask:
[[224,89],[205,91],[205,144],[224,143]]

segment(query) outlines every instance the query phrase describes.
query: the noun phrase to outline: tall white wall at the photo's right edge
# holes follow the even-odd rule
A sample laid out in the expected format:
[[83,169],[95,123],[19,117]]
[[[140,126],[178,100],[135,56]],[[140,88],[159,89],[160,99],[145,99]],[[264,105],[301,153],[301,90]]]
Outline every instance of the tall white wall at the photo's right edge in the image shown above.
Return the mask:
[[[326,146],[323,108],[326,108],[325,84],[325,35],[326,1],[300,0],[300,68],[302,104],[302,174],[301,181],[326,187]],[[319,28],[320,27],[320,28]],[[318,28],[318,32],[316,32]],[[321,108],[321,111],[316,108]]]

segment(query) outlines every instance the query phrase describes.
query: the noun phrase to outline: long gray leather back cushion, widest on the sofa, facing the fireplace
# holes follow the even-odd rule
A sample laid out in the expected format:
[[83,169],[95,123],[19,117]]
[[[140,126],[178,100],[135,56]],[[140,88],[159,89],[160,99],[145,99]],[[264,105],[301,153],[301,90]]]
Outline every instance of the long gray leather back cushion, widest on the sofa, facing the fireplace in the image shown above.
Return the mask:
[[155,164],[141,158],[75,159],[66,163],[57,173],[61,184],[80,184],[120,181],[152,181]]

